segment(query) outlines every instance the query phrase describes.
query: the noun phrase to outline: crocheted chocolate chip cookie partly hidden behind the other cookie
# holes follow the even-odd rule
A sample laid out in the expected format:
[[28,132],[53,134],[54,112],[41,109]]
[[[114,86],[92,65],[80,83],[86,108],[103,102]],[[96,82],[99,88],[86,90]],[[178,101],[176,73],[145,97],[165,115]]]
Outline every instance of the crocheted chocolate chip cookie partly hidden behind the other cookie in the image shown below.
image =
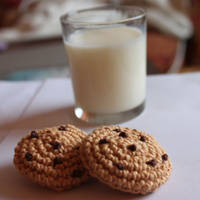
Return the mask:
[[17,144],[14,164],[33,182],[56,191],[88,179],[79,147],[86,133],[72,125],[31,131]]

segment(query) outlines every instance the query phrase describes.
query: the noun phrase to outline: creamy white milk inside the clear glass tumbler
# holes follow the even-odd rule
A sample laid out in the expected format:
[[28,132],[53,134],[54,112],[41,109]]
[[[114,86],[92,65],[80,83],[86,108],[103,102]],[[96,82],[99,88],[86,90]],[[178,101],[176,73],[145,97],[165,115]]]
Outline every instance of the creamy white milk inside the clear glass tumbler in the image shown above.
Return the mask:
[[122,25],[75,31],[65,46],[76,106],[113,114],[145,101],[146,36],[139,29]]

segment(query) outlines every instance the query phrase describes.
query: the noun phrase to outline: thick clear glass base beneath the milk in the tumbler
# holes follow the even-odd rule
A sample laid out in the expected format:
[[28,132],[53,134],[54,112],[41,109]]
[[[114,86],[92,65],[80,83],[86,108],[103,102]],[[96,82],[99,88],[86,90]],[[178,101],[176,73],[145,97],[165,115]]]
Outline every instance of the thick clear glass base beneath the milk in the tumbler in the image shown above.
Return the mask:
[[131,110],[114,113],[114,114],[96,114],[96,113],[89,113],[84,111],[80,107],[75,107],[74,114],[78,119],[81,119],[85,122],[95,123],[95,124],[118,124],[125,121],[128,121],[132,118],[137,117],[145,108],[145,102],[141,103],[136,108]]

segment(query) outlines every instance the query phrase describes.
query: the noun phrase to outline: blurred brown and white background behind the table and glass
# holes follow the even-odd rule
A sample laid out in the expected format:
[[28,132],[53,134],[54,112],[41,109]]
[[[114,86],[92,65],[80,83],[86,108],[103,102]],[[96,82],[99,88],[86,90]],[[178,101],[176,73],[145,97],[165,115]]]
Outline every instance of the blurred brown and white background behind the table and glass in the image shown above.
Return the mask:
[[0,0],[0,80],[69,76],[60,15],[107,3],[148,19],[148,74],[200,71],[199,0]]

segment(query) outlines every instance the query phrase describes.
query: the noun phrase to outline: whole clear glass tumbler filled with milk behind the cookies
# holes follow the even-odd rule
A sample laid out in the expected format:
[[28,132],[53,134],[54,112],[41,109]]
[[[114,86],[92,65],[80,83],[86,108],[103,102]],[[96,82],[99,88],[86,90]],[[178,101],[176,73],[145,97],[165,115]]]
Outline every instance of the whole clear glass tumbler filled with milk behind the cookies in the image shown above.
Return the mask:
[[77,118],[115,124],[139,115],[146,98],[143,9],[103,6],[61,17]]

